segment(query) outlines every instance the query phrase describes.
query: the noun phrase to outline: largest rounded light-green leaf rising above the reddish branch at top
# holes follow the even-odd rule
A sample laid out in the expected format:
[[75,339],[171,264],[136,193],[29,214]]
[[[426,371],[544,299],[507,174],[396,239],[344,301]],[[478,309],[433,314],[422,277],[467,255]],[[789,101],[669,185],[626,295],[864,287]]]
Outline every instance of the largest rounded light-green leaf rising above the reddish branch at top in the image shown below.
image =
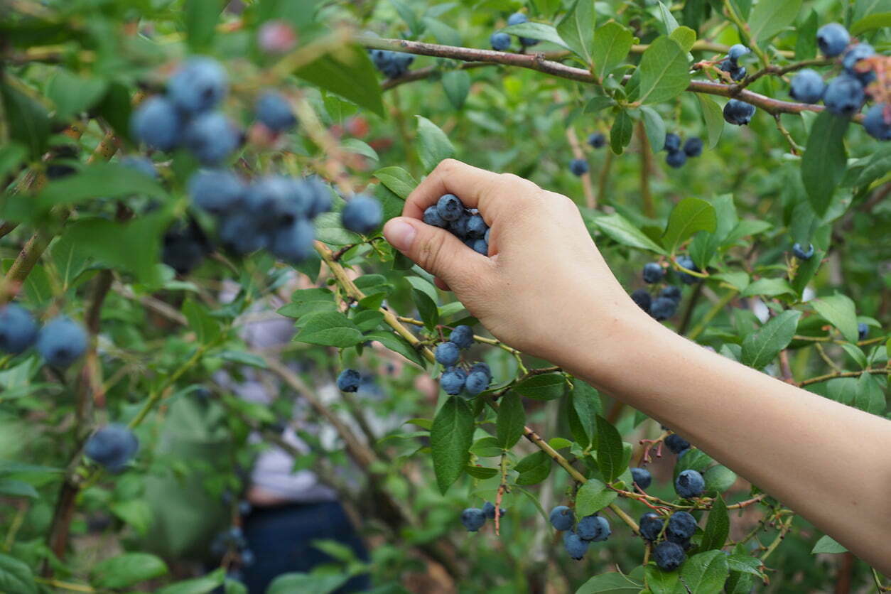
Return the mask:
[[690,64],[683,47],[670,37],[658,37],[643,53],[638,102],[664,103],[690,85]]

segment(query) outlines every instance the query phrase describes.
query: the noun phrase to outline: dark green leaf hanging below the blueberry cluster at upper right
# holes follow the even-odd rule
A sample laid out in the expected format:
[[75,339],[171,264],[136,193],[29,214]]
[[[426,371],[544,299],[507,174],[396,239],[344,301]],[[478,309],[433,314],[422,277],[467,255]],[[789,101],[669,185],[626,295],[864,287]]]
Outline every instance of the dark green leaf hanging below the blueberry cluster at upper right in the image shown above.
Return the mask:
[[848,124],[848,118],[840,118],[825,110],[813,120],[811,134],[807,137],[805,155],[801,158],[801,181],[805,183],[813,212],[819,216],[829,210],[832,194],[845,175]]

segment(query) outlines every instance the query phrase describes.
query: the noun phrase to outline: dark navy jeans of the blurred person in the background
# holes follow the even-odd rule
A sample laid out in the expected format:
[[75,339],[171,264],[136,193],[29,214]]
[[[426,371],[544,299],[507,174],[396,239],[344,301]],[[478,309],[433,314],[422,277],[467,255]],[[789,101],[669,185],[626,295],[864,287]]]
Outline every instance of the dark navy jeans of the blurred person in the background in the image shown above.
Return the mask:
[[[308,573],[313,567],[336,562],[313,541],[331,540],[347,545],[356,557],[368,561],[368,551],[337,501],[254,508],[244,519],[244,535],[254,553],[254,565],[243,570],[250,594],[265,594],[281,574]],[[338,593],[371,590],[368,574],[357,575]]]

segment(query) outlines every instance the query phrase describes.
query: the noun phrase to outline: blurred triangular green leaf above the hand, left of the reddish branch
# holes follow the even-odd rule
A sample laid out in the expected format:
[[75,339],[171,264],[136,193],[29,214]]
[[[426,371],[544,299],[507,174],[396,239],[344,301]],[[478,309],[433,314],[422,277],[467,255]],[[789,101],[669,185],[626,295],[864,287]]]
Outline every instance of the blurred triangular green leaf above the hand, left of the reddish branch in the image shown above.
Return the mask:
[[340,47],[325,53],[295,72],[300,78],[338,94],[359,107],[385,118],[380,83],[372,61],[360,45]]

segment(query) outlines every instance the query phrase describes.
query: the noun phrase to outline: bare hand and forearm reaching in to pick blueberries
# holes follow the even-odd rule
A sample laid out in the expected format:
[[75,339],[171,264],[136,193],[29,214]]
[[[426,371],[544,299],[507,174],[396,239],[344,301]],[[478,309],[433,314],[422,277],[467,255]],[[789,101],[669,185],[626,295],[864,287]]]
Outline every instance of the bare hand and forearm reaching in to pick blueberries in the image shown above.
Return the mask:
[[[492,228],[491,257],[421,221],[446,193],[478,207]],[[733,362],[651,319],[609,270],[572,200],[446,159],[384,235],[496,338],[674,427],[891,574],[891,421]]]

